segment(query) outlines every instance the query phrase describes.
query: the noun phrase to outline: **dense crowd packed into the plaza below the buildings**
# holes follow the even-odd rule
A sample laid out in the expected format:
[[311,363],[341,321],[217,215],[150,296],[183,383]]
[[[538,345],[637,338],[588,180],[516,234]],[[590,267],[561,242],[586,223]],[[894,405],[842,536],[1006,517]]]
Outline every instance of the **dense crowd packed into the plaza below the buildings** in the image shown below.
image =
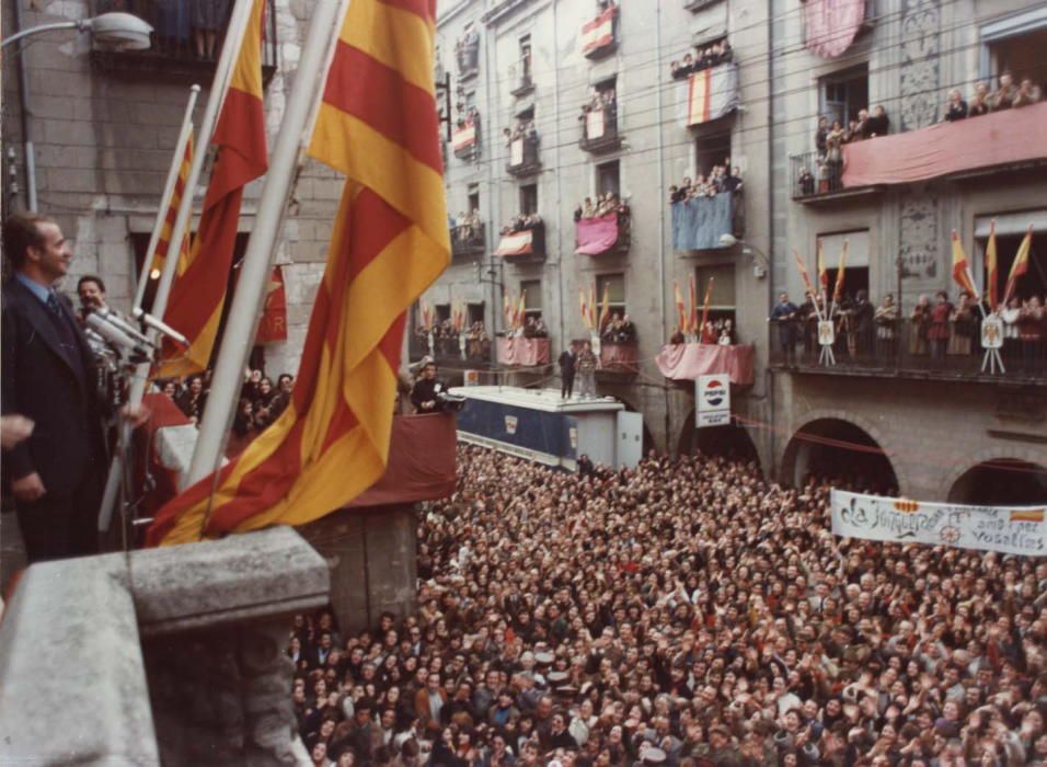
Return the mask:
[[578,474],[461,447],[418,604],[299,616],[315,765],[1047,765],[1047,563],[838,539],[723,458]]

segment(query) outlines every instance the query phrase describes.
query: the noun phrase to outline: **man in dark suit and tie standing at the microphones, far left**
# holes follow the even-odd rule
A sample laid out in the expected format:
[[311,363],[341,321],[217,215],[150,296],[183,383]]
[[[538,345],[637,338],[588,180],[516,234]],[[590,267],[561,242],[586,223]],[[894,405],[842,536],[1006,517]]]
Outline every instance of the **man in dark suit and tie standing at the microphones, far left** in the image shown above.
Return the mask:
[[3,245],[14,276],[3,286],[0,410],[35,422],[3,455],[26,556],[90,554],[107,457],[91,351],[55,290],[72,251],[53,219],[27,214],[8,218]]

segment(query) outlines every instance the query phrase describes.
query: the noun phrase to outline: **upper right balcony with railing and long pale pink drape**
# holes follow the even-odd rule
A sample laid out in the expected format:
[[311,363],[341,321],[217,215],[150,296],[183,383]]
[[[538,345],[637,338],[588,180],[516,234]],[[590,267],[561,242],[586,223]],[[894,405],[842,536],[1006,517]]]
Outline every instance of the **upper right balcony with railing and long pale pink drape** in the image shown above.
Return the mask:
[[1039,168],[1047,165],[1044,125],[1047,102],[847,144],[836,163],[816,152],[797,154],[791,158],[792,196],[809,204]]

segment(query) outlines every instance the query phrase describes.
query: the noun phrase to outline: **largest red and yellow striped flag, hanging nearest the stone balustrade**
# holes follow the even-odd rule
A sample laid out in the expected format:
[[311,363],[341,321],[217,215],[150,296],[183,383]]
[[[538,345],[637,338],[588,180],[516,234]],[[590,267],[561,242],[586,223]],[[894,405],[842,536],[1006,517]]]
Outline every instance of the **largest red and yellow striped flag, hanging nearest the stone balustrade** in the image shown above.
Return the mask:
[[435,7],[353,0],[340,30],[310,153],[347,180],[290,405],[161,510],[152,542],[301,525],[386,469],[405,312],[450,263]]

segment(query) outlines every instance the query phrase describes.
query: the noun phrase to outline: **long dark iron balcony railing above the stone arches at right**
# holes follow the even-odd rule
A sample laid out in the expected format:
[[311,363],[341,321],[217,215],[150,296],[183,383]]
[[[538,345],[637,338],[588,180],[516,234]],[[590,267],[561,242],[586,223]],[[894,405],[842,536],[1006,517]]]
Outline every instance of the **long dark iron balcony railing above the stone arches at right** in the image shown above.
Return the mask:
[[769,365],[819,375],[1047,386],[1047,339],[1005,343],[1000,350],[1005,373],[993,374],[983,365],[978,328],[969,332],[957,332],[955,323],[950,323],[944,337],[928,337],[933,333],[925,325],[909,320],[837,331],[836,365],[822,365],[815,322],[771,321]]

